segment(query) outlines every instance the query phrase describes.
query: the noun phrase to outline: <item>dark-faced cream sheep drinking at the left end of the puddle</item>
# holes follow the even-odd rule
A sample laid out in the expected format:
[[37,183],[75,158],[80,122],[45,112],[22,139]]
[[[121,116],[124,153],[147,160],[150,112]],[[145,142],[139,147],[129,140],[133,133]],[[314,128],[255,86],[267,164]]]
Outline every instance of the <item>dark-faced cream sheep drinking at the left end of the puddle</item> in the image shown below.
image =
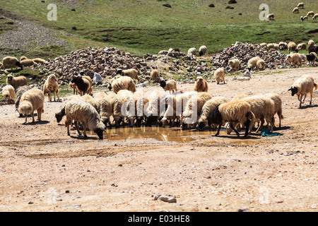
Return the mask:
[[81,100],[70,100],[65,105],[65,115],[65,126],[67,127],[68,136],[71,136],[69,125],[74,121],[79,136],[81,136],[81,132],[78,129],[78,122],[83,126],[84,137],[87,137],[86,129],[89,129],[97,133],[100,139],[103,139],[102,132],[105,131],[105,124],[100,120],[100,116],[93,105]]

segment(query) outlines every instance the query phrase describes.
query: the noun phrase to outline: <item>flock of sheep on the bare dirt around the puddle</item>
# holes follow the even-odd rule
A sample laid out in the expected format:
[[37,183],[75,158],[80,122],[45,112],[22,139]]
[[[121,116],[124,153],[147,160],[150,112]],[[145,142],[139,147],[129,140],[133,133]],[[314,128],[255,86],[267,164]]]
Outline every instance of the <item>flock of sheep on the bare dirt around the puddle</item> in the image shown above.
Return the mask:
[[[220,71],[220,77],[224,81],[224,71]],[[159,73],[153,70],[151,75],[151,78],[155,80],[158,79]],[[65,126],[69,136],[69,126],[73,124],[79,136],[81,136],[79,129],[81,125],[85,137],[86,130],[90,130],[94,131],[100,139],[103,138],[103,131],[107,129],[107,126],[110,128],[124,126],[125,121],[129,126],[159,124],[199,130],[203,130],[206,126],[209,129],[217,127],[216,136],[220,133],[221,126],[225,126],[228,134],[235,131],[237,136],[240,136],[238,130],[245,128],[245,136],[247,136],[255,125],[259,132],[265,122],[273,131],[276,114],[281,126],[282,100],[275,93],[237,95],[232,100],[227,100],[225,97],[213,97],[208,93],[207,81],[200,76],[195,80],[193,91],[180,91],[175,81],[169,80],[162,83],[163,80],[159,78],[160,86],[155,86],[153,90],[144,93],[143,90],[136,89],[134,80],[139,80],[135,70],[122,71],[121,75],[112,79],[110,84],[112,92],[101,91],[93,94],[90,77],[74,76],[69,83],[69,86],[74,88],[73,95],[69,97],[61,111],[55,114],[57,122],[66,117]],[[35,111],[37,111],[37,120],[41,120],[45,94],[48,95],[49,101],[52,101],[53,94],[55,101],[55,94],[59,93],[57,77],[54,74],[48,76],[43,90],[30,88],[24,76],[9,75],[6,83],[2,90],[3,95],[9,99],[15,98],[16,109],[21,117],[25,117],[25,123],[28,114],[31,114],[33,122],[35,121]],[[310,105],[312,104],[312,93],[317,88],[317,83],[314,83],[312,76],[302,76],[289,90],[292,95],[298,95],[301,107],[308,93],[311,95]],[[76,95],[76,92],[79,95]]]

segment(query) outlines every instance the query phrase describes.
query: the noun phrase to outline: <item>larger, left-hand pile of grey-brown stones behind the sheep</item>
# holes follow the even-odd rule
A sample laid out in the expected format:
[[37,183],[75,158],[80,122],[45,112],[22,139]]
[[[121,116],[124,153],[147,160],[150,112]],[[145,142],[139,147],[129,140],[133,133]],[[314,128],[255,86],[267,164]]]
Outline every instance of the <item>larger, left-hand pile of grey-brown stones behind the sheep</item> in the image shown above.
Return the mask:
[[86,75],[93,78],[94,74],[98,74],[107,80],[116,76],[119,70],[133,68],[141,74],[151,70],[151,67],[147,66],[146,59],[115,47],[88,47],[55,59],[48,59],[40,69],[40,74],[55,73],[60,83],[69,83],[73,76]]

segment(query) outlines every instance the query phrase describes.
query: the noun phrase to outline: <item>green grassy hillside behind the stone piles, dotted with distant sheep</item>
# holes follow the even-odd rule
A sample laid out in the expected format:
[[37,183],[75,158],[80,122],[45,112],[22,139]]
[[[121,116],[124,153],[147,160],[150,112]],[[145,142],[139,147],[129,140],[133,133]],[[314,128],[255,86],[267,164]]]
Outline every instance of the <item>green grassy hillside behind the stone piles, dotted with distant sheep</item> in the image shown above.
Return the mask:
[[[142,56],[170,47],[187,52],[201,44],[212,53],[236,41],[318,42],[318,20],[300,20],[307,11],[318,12],[318,4],[304,1],[305,9],[292,13],[298,2],[267,0],[269,13],[276,15],[273,21],[259,20],[259,5],[264,1],[258,0],[237,0],[237,4],[228,0],[8,0],[0,8],[75,35],[62,37],[73,49],[109,45]],[[49,3],[57,5],[56,21],[47,20]],[[215,7],[208,7],[212,3]]]

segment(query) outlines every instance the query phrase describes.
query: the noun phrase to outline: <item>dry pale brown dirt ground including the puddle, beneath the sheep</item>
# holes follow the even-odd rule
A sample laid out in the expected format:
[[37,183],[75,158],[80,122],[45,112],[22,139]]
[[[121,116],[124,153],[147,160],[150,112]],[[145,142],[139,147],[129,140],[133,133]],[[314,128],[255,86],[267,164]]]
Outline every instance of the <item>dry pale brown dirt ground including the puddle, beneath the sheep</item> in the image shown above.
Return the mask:
[[[95,134],[83,140],[75,131],[66,136],[54,118],[65,101],[46,102],[43,121],[26,125],[13,105],[1,106],[0,211],[316,212],[318,93],[312,106],[307,99],[298,109],[287,90],[304,73],[317,83],[317,72],[265,71],[250,81],[209,83],[208,93],[228,99],[280,94],[285,119],[275,132],[281,136],[215,138],[213,131],[146,128],[148,133],[112,129],[104,141]],[[155,201],[153,194],[174,195],[177,203]]]

